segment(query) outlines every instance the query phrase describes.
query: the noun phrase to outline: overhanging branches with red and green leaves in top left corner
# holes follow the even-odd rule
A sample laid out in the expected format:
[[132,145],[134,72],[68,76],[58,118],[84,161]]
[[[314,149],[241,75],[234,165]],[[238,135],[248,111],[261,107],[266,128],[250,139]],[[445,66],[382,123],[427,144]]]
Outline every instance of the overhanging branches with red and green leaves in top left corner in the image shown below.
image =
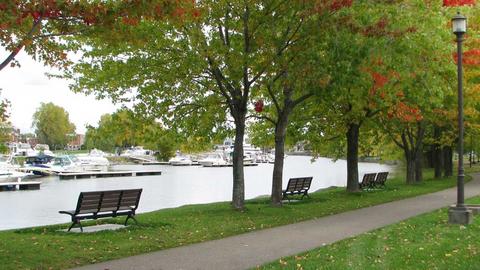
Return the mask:
[[[170,3],[171,2],[171,3]],[[15,56],[22,50],[51,66],[68,64],[62,37],[85,33],[91,25],[114,29],[118,22],[135,24],[172,14],[179,1],[71,1],[0,0],[0,42],[9,52],[0,63],[19,65]]]

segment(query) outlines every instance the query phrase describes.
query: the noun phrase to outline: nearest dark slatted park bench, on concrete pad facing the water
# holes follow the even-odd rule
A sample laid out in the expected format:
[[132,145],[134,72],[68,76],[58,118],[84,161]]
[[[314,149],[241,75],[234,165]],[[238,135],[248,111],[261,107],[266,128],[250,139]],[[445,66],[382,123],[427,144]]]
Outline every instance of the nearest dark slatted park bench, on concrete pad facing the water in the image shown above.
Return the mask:
[[77,208],[71,211],[59,211],[59,213],[72,217],[72,225],[68,231],[78,224],[83,232],[81,220],[104,217],[127,216],[126,226],[130,218],[137,223],[135,210],[138,208],[141,194],[142,189],[80,192]]

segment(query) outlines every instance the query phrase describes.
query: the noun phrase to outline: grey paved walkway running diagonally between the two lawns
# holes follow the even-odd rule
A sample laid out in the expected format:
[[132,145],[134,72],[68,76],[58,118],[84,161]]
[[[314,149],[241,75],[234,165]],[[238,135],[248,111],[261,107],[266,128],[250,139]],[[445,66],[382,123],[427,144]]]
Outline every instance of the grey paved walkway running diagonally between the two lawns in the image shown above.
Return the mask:
[[[480,195],[480,174],[465,197]],[[296,224],[167,249],[78,269],[248,269],[449,206],[456,188]],[[445,218],[447,218],[445,216]]]

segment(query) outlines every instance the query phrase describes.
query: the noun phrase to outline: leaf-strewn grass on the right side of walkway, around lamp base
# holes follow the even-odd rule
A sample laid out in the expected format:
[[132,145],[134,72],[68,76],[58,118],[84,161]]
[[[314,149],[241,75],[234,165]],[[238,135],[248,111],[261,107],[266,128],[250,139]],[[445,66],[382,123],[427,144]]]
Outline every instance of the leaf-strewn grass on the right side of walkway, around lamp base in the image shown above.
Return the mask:
[[258,269],[480,269],[479,258],[480,216],[451,225],[444,208]]

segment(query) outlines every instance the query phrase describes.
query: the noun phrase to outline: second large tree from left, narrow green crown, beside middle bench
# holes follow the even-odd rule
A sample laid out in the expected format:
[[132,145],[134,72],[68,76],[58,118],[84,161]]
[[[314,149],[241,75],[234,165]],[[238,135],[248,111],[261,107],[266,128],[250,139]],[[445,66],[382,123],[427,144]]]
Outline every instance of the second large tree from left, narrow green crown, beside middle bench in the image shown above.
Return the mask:
[[[323,67],[326,53],[322,47],[323,37],[328,35],[327,29],[331,29],[331,25],[338,21],[335,13],[350,5],[351,1],[319,1],[317,5],[304,5],[297,9],[289,6],[285,8],[291,11],[291,15],[281,18],[284,20],[282,22],[278,21],[277,25],[289,24],[295,28],[296,33],[292,36],[290,48],[278,55],[274,67],[260,80],[262,91],[255,96],[257,118],[264,119],[273,126],[273,205],[281,205],[282,200],[285,143],[290,117],[328,83],[329,78]],[[274,35],[270,38],[276,37]],[[262,124],[255,127],[263,127],[260,132],[265,134],[268,134],[270,128]],[[258,136],[258,130],[254,134]]]

